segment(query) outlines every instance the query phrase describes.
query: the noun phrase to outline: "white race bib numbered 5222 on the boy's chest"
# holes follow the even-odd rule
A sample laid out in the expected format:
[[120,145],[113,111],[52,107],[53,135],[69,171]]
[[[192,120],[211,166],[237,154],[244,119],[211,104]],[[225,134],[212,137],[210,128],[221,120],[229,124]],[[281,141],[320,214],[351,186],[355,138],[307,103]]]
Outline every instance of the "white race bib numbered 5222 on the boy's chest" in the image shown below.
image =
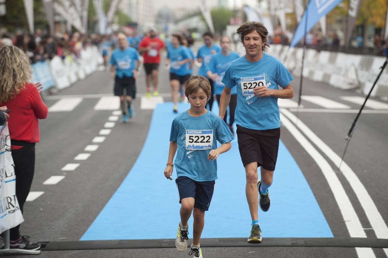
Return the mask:
[[186,150],[213,148],[213,130],[186,130]]

